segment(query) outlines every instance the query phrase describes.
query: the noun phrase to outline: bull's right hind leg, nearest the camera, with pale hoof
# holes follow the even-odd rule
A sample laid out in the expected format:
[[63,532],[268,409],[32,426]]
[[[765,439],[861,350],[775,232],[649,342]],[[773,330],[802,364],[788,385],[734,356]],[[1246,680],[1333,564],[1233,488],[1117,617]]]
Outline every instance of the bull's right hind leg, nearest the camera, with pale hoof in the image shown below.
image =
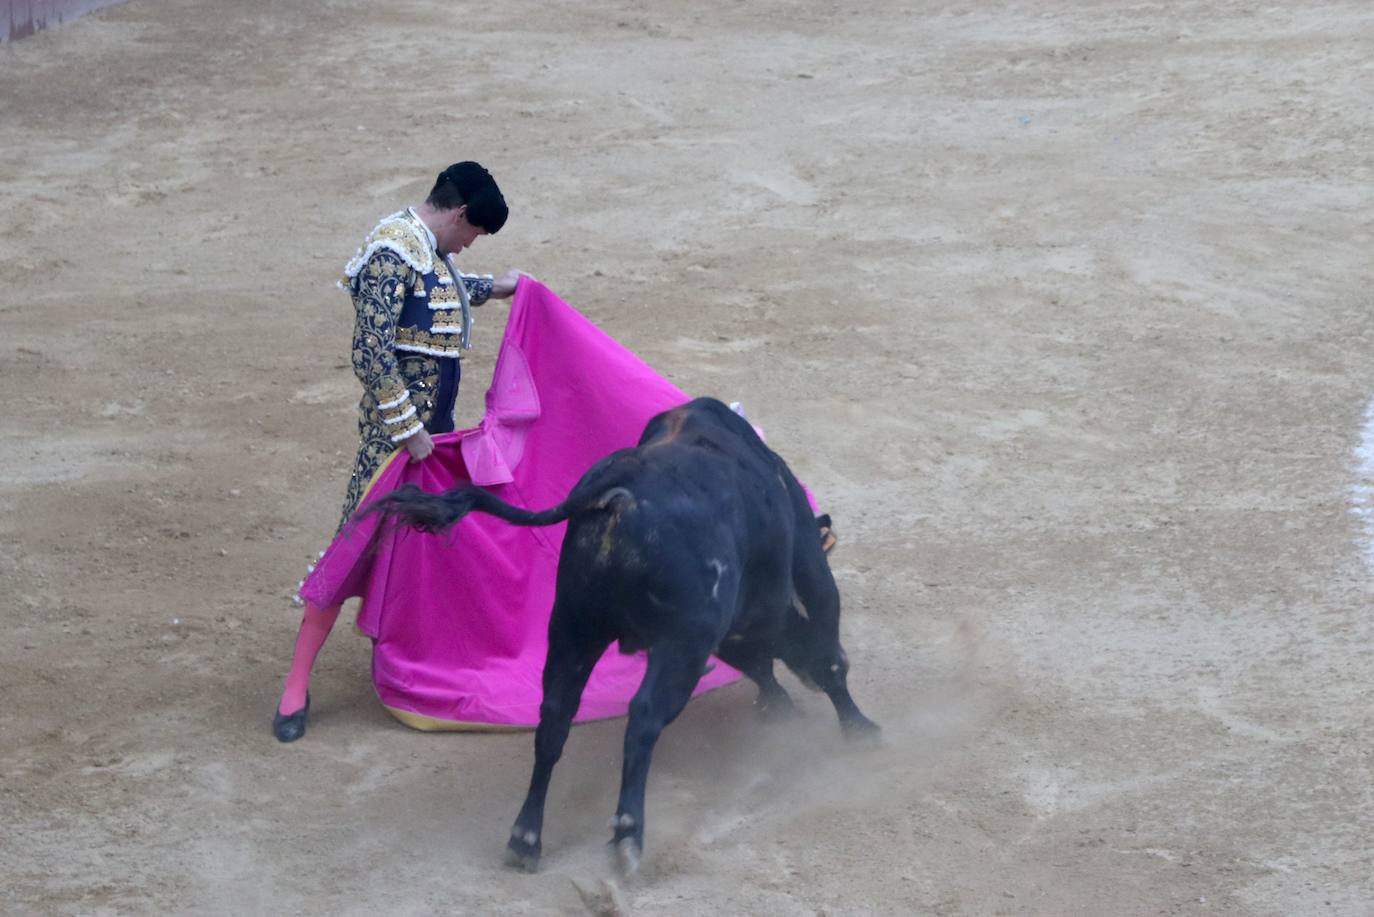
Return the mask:
[[710,638],[675,637],[649,650],[649,668],[629,703],[625,727],[625,762],[621,769],[620,804],[610,819],[611,848],[621,874],[639,869],[644,850],[644,785],[654,744],[668,723],[677,718],[701,678],[710,656]]

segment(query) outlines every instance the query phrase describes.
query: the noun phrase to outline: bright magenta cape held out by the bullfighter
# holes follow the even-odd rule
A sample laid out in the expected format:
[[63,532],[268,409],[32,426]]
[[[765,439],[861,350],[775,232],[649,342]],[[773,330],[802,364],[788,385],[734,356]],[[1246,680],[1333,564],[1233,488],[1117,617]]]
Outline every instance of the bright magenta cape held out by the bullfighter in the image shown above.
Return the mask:
[[[419,463],[404,450],[363,500],[418,484],[480,484],[526,509],[556,506],[607,452],[633,445],[651,417],[687,401],[675,385],[559,300],[522,279],[496,357],[486,415],[475,429],[434,437]],[[301,587],[319,606],[363,597],[376,694],[418,729],[539,723],[554,573],[566,524],[522,528],[474,514],[447,535],[411,529],[365,551],[375,520],[334,539]],[[578,720],[622,716],[644,657],[611,648],[592,671]],[[739,678],[723,663],[697,692]]]

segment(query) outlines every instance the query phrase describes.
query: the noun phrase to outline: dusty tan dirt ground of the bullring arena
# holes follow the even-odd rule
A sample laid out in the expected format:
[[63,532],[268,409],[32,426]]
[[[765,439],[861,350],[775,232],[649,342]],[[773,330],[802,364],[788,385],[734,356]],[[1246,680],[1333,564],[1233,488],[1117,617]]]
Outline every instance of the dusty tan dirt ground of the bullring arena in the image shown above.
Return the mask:
[[1374,913],[1371,59],[1360,0],[129,0],[0,47],[0,910],[609,913],[621,723],[536,876],[530,736],[407,730],[349,628],[268,733],[354,445],[334,279],[477,158],[513,217],[464,267],[742,400],[834,514],[886,727],[694,703],[625,913]]

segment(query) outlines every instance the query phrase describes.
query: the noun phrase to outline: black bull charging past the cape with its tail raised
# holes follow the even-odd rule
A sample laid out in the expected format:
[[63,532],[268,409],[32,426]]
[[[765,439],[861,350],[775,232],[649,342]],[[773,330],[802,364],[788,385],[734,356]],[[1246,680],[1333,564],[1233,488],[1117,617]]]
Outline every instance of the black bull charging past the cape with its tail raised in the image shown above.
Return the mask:
[[[633,872],[644,843],[644,784],[664,727],[714,654],[758,685],[765,712],[791,708],[774,676],[780,659],[824,692],[849,736],[878,726],[849,697],[840,591],[807,495],[753,428],[714,399],[653,418],[635,448],[588,470],[559,506],[532,513],[474,487],[400,488],[372,510],[441,531],[477,510],[517,525],[567,520],[548,621],[534,773],[507,859],[536,869],[548,778],[592,667],[611,643],[649,650],[629,705],[613,844]],[[379,529],[381,531],[381,529]]]

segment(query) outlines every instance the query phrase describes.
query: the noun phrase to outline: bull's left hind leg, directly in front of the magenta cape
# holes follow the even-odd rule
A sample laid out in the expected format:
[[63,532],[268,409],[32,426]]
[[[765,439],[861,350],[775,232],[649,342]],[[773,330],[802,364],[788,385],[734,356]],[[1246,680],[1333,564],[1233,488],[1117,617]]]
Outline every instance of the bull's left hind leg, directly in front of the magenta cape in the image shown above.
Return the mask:
[[556,605],[550,617],[544,700],[539,705],[539,727],[534,730],[534,773],[529,780],[525,804],[515,817],[515,826],[511,828],[511,837],[506,844],[506,863],[526,872],[539,869],[548,778],[563,753],[563,744],[567,741],[567,731],[592,667],[610,646],[610,638],[578,634],[580,621],[573,619],[574,616],[562,613]]

